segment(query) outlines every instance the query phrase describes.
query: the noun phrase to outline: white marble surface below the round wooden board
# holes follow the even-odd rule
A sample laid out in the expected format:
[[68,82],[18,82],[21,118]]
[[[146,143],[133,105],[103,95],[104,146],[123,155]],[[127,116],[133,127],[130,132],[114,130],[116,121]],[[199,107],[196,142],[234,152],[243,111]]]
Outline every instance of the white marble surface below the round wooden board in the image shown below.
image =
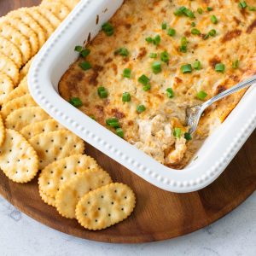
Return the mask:
[[203,230],[169,241],[107,244],[67,236],[39,224],[0,197],[0,255],[256,255],[256,192]]

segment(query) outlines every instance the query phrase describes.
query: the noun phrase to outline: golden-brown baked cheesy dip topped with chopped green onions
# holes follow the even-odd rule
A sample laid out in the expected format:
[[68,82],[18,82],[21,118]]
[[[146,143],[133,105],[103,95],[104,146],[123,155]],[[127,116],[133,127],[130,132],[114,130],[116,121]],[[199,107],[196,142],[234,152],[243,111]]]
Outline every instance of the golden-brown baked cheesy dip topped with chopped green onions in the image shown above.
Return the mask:
[[[61,78],[61,96],[166,166],[185,166],[245,90],[185,109],[256,73],[253,0],[126,0]],[[82,50],[82,52],[81,52]]]

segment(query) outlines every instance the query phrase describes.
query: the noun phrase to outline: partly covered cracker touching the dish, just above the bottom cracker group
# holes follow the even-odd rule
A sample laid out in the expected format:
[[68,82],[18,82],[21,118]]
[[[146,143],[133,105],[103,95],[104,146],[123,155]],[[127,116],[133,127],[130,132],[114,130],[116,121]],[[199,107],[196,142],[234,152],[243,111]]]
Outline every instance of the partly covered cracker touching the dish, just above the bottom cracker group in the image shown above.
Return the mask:
[[84,153],[84,141],[67,130],[41,133],[32,137],[29,143],[38,153],[40,170],[55,160]]

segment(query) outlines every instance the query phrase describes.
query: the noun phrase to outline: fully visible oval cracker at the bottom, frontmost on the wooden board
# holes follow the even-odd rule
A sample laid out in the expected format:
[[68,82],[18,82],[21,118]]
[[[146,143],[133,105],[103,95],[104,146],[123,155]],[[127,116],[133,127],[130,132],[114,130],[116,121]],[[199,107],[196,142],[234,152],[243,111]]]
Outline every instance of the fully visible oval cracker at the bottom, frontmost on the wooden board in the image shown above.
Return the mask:
[[135,204],[127,185],[111,183],[85,194],[76,207],[76,218],[85,229],[103,230],[127,218]]

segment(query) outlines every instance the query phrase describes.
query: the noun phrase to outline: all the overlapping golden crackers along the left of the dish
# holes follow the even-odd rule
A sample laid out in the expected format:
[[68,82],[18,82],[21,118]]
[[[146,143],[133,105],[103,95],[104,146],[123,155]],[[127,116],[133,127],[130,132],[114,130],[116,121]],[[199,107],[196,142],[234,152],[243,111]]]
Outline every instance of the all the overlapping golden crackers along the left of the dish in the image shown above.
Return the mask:
[[16,183],[38,178],[43,201],[89,230],[127,218],[135,195],[113,183],[84,141],[51,119],[27,86],[33,56],[79,0],[43,0],[0,18],[0,169]]

